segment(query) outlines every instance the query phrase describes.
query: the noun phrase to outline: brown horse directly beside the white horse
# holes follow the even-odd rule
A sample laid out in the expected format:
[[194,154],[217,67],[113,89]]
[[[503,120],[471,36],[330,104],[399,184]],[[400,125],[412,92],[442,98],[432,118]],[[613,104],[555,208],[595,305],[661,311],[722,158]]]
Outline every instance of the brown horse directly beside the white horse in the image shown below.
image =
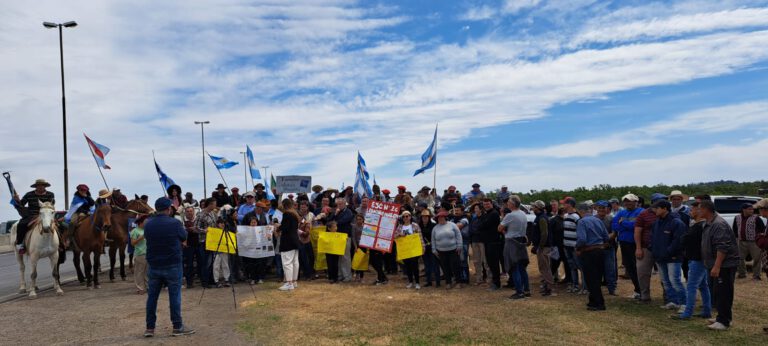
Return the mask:
[[[94,288],[101,288],[99,270],[101,269],[101,252],[104,250],[106,239],[104,233],[111,228],[112,207],[109,204],[102,204],[96,208],[93,215],[83,218],[74,230],[73,261],[79,274],[80,254],[82,253],[87,287],[91,287],[93,284]],[[69,239],[69,235],[67,234],[64,238]],[[93,255],[93,262],[91,262],[91,255]]]

